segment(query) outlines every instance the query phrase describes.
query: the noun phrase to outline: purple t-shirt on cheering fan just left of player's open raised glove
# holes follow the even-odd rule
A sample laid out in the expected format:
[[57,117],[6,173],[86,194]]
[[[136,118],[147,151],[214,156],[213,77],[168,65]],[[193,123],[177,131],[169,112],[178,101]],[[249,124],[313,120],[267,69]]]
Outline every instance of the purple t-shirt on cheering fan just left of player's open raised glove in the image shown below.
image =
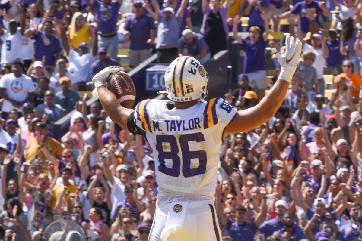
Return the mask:
[[265,70],[265,42],[263,37],[260,37],[255,44],[248,39],[243,39],[241,46],[245,51],[243,72],[251,73],[257,70]]

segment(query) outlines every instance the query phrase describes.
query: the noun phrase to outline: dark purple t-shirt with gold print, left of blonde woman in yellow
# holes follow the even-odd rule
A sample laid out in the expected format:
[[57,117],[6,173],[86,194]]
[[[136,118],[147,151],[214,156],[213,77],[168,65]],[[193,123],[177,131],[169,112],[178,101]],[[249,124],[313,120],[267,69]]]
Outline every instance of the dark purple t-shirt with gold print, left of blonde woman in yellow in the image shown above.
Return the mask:
[[38,34],[33,34],[35,60],[41,61],[45,56],[45,66],[54,65],[55,54],[62,51],[60,41],[54,34],[46,35],[45,32],[37,30]]

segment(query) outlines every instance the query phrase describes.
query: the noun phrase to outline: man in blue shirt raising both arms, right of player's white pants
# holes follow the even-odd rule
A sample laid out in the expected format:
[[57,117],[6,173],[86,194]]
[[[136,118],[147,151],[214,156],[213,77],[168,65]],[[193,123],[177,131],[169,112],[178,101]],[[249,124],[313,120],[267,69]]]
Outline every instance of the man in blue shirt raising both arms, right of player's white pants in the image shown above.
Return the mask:
[[262,196],[261,211],[256,215],[255,221],[247,222],[248,212],[244,206],[235,207],[236,221],[226,217],[221,206],[221,190],[216,190],[216,211],[220,219],[220,223],[226,226],[226,229],[232,240],[253,241],[258,226],[264,222],[266,218],[266,189],[262,188],[260,194]]

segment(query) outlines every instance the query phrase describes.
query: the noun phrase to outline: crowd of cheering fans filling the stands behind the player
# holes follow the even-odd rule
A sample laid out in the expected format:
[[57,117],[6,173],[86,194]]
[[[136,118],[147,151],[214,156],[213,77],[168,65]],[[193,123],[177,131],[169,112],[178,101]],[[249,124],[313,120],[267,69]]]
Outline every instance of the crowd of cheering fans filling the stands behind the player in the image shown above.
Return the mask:
[[[0,240],[39,241],[53,220],[69,219],[93,241],[146,241],[157,199],[150,144],[112,122],[99,102],[88,109],[78,91],[119,65],[120,48],[130,49],[130,67],[152,53],[160,63],[182,55],[207,63],[228,48],[231,32],[244,66],[224,99],[251,108],[273,85],[265,62],[279,75],[266,47],[283,53],[270,33],[287,18],[303,53],[283,105],[220,148],[215,206],[223,241],[361,241],[361,7],[358,0],[3,1]],[[244,39],[241,17],[249,17]],[[334,89],[329,98],[325,87]],[[56,140],[54,123],[73,110],[69,131]]]

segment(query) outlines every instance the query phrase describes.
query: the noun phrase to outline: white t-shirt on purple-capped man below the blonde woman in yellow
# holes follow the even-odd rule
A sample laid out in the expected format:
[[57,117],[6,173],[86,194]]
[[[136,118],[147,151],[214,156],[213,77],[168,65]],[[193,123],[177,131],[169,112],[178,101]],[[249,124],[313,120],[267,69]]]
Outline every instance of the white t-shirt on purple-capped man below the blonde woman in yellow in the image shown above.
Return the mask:
[[80,56],[79,53],[70,49],[67,59],[69,61],[68,72],[71,73],[72,84],[91,80],[90,66],[96,59],[92,53],[86,53]]

